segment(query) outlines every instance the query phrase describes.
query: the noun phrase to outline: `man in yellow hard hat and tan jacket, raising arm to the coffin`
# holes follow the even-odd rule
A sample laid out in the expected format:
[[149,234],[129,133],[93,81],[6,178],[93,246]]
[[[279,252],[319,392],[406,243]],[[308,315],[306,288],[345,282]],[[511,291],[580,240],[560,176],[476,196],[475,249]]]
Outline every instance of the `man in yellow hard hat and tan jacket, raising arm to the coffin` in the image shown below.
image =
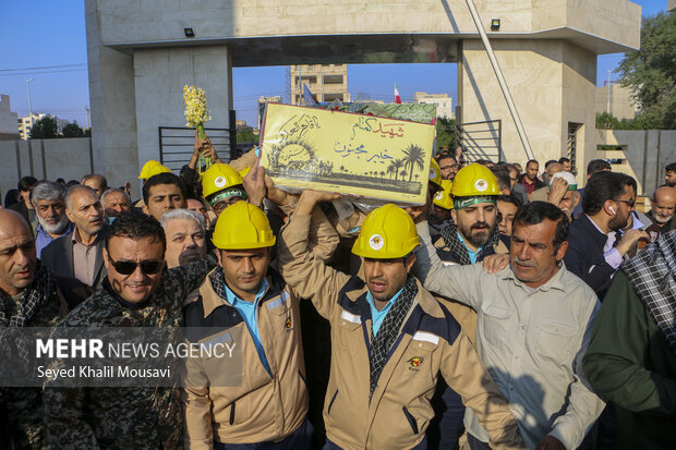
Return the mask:
[[420,242],[400,207],[373,210],[352,253],[364,277],[350,277],[309,250],[311,215],[335,194],[304,191],[280,235],[286,281],[331,326],[324,404],[325,449],[423,449],[439,375],[491,428],[495,448],[521,448],[507,403],[448,311],[411,275]]

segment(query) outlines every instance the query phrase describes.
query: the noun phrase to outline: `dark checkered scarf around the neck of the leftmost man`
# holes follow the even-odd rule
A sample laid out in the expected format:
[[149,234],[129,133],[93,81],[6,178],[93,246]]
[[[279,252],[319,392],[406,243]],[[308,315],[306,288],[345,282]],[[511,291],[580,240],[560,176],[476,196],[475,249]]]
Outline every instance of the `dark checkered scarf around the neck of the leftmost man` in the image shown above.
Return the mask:
[[[56,283],[51,271],[47,268],[38,268],[35,271],[33,282],[26,288],[20,301],[19,313],[13,316],[8,316],[7,313],[8,304],[12,302],[12,299],[3,291],[0,291],[0,329],[3,327],[25,327],[26,323],[35,316],[40,306],[49,301],[55,288]],[[4,341],[1,336],[0,341]],[[10,344],[10,342],[2,342],[2,344]],[[19,351],[19,356],[24,362],[27,362],[27,343],[19,339],[14,341],[14,344]]]

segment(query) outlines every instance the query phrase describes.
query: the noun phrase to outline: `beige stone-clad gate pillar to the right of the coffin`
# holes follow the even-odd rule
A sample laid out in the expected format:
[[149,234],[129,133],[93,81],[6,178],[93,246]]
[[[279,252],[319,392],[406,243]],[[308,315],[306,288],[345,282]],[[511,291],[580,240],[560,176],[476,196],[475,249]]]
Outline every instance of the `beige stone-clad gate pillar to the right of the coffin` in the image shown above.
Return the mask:
[[[492,39],[491,44],[541,169],[546,160],[567,156],[570,125],[576,129],[576,165],[583,178],[584,149],[594,143],[596,56],[557,39]],[[523,165],[527,156],[483,44],[463,40],[461,48],[462,122],[502,119],[504,158]]]

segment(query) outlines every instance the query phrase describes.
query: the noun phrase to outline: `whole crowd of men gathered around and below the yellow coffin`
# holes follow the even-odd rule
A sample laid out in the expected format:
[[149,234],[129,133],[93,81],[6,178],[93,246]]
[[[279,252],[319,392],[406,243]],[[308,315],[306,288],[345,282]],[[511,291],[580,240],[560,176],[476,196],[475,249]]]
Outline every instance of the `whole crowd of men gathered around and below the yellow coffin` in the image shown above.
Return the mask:
[[0,327],[231,330],[241,382],[196,358],[185,388],[0,388],[0,447],[674,448],[676,163],[647,214],[604,160],[584,188],[567,158],[521,171],[442,153],[424,205],[351,215],[208,138],[180,175],[148,161],[137,202],[23,178]]

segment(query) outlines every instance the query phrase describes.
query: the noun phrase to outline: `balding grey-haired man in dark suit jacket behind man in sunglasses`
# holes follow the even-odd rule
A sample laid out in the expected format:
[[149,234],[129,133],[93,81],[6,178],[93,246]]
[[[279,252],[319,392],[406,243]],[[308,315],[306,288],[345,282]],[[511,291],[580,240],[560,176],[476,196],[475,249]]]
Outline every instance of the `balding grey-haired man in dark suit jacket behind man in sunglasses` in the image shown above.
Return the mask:
[[65,193],[65,214],[73,232],[43,250],[43,264],[57,276],[76,278],[97,288],[107,275],[104,266],[104,208],[94,190],[75,185]]

